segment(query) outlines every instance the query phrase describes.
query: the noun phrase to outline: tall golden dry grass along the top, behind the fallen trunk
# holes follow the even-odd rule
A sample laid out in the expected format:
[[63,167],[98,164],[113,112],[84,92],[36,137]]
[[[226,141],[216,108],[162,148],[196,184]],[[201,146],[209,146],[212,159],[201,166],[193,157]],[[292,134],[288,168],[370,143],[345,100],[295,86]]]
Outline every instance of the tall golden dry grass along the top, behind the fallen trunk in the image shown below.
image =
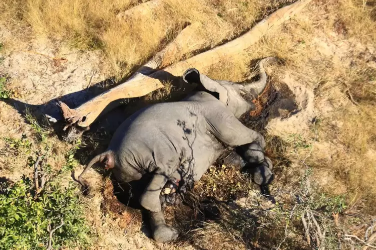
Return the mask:
[[[117,18],[136,0],[9,0],[0,3],[0,23],[29,26],[37,35],[67,41],[80,49],[101,49],[117,79],[160,50],[186,24],[213,47],[251,27],[272,0],[163,0],[150,11]],[[273,5],[274,4],[274,5]],[[181,59],[176,55],[171,61]]]

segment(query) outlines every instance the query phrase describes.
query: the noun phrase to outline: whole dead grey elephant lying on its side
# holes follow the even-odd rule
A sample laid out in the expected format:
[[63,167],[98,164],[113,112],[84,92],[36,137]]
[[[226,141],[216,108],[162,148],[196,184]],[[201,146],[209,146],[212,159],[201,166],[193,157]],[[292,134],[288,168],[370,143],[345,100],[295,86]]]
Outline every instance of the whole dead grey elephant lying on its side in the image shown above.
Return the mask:
[[[264,156],[265,140],[238,119],[253,108],[252,100],[266,85],[263,64],[259,62],[260,80],[249,84],[214,81],[188,69],[183,80],[198,84],[198,89],[180,102],[155,104],[138,111],[116,130],[107,150],[94,157],[79,176],[96,162],[105,161],[119,182],[139,180],[153,173],[139,201],[150,211],[153,238],[168,242],[178,231],[167,226],[161,211],[160,193],[168,179],[180,180],[179,189],[186,191],[200,180],[226,148],[240,148],[235,158],[241,166],[254,164],[249,171],[258,184],[273,179],[271,161]],[[239,151],[239,150],[238,150]]]

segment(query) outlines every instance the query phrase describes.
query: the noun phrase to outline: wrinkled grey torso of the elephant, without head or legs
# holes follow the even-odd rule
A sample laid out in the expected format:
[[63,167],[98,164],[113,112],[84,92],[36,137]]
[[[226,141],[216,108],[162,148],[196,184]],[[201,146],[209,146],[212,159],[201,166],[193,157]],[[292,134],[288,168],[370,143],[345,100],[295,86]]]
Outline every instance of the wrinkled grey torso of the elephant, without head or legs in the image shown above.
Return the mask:
[[159,168],[167,177],[199,180],[225,149],[210,125],[211,119],[222,119],[222,113],[226,108],[221,102],[198,92],[181,102],[156,104],[133,114],[116,130],[109,146],[116,155],[115,178],[124,181],[122,168],[141,173]]

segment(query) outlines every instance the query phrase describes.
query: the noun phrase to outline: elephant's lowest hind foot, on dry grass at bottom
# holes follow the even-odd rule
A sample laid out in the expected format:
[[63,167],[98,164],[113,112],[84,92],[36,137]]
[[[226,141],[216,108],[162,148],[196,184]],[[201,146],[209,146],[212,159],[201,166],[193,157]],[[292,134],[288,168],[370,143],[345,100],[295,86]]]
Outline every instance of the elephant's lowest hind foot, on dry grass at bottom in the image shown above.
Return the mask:
[[159,243],[171,242],[178,238],[179,231],[166,224],[163,211],[149,212],[150,227],[153,232],[153,239]]

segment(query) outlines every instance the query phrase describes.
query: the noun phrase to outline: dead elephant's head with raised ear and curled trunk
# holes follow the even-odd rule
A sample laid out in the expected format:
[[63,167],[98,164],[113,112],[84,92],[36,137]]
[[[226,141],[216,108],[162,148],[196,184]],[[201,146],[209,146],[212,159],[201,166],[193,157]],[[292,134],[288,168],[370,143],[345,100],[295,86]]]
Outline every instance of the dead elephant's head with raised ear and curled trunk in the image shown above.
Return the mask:
[[256,82],[237,84],[228,81],[212,80],[197,69],[190,68],[182,76],[186,83],[196,83],[199,91],[206,91],[226,105],[236,118],[255,108],[252,101],[261,94],[267,83],[264,69],[266,62],[275,62],[275,57],[266,57],[258,62],[259,80]]

